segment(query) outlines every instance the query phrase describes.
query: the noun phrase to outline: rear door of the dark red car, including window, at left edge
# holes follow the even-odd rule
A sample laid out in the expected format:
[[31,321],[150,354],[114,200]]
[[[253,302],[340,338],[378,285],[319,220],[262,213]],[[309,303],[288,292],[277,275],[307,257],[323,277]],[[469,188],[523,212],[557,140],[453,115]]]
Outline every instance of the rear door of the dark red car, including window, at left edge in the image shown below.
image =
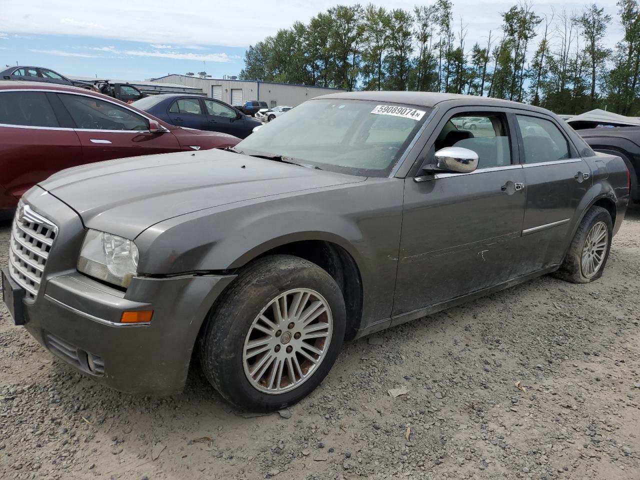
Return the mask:
[[0,91],[0,184],[19,198],[53,173],[83,162],[78,136],[47,93]]

